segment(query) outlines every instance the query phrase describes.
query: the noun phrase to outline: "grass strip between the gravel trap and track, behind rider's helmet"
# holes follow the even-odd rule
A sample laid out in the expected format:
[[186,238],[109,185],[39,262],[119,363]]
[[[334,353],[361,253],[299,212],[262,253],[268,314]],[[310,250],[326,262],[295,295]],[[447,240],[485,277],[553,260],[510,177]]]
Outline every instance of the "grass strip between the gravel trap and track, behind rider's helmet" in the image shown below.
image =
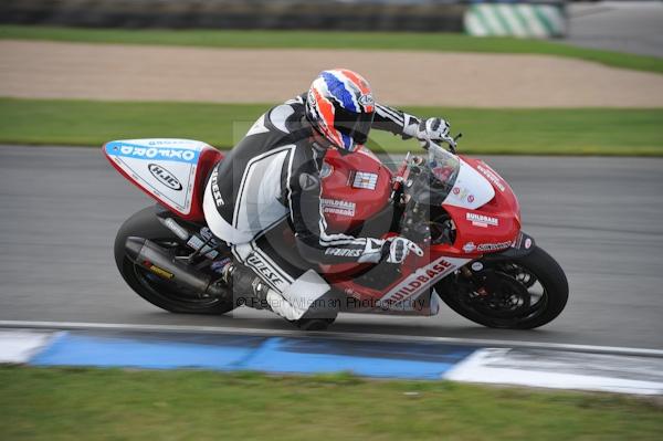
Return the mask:
[[[0,98],[0,143],[101,146],[113,139],[182,137],[230,148],[269,104],[117,103]],[[663,109],[407,107],[443,116],[471,154],[663,156]],[[418,150],[373,130],[376,151]]]

